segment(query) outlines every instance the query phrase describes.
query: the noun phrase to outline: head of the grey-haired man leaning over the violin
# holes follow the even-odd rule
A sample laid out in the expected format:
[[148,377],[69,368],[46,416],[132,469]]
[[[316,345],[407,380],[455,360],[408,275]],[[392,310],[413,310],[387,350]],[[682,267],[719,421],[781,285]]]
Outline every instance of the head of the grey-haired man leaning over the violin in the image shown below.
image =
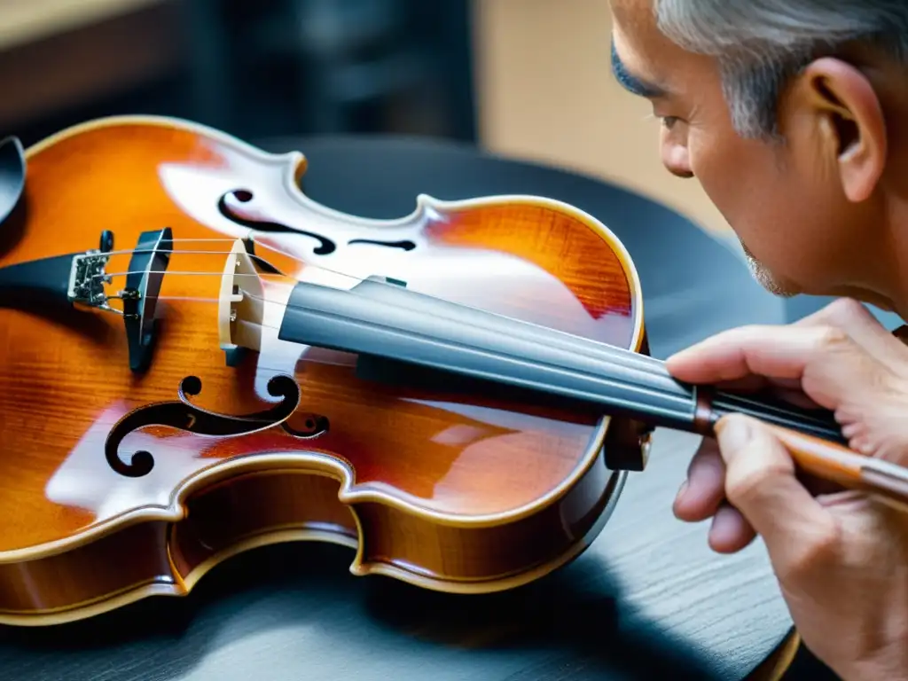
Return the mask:
[[699,180],[758,279],[908,304],[908,2],[611,5],[618,81],[651,100],[663,162]]

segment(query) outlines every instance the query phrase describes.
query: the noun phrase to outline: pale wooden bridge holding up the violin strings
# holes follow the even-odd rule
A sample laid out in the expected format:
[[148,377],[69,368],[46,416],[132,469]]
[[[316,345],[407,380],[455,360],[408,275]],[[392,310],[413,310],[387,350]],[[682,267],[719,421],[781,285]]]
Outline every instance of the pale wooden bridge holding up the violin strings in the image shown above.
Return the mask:
[[265,292],[259,272],[238,239],[224,263],[218,295],[218,339],[228,366],[236,366],[244,350],[261,349],[264,306]]

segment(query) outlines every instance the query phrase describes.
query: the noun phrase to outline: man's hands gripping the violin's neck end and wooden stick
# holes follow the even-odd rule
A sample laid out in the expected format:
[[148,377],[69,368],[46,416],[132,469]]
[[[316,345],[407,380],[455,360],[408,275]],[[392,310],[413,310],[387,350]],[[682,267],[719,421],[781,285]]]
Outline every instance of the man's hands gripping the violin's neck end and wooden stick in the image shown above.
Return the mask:
[[[908,347],[837,301],[783,327],[726,331],[668,360],[678,380],[770,387],[834,410],[851,448],[908,466]],[[716,551],[759,535],[804,643],[844,679],[908,679],[908,514],[796,477],[785,447],[730,416],[696,453],[675,513]],[[825,491],[825,490],[824,490]],[[813,492],[813,493],[812,493]]]

